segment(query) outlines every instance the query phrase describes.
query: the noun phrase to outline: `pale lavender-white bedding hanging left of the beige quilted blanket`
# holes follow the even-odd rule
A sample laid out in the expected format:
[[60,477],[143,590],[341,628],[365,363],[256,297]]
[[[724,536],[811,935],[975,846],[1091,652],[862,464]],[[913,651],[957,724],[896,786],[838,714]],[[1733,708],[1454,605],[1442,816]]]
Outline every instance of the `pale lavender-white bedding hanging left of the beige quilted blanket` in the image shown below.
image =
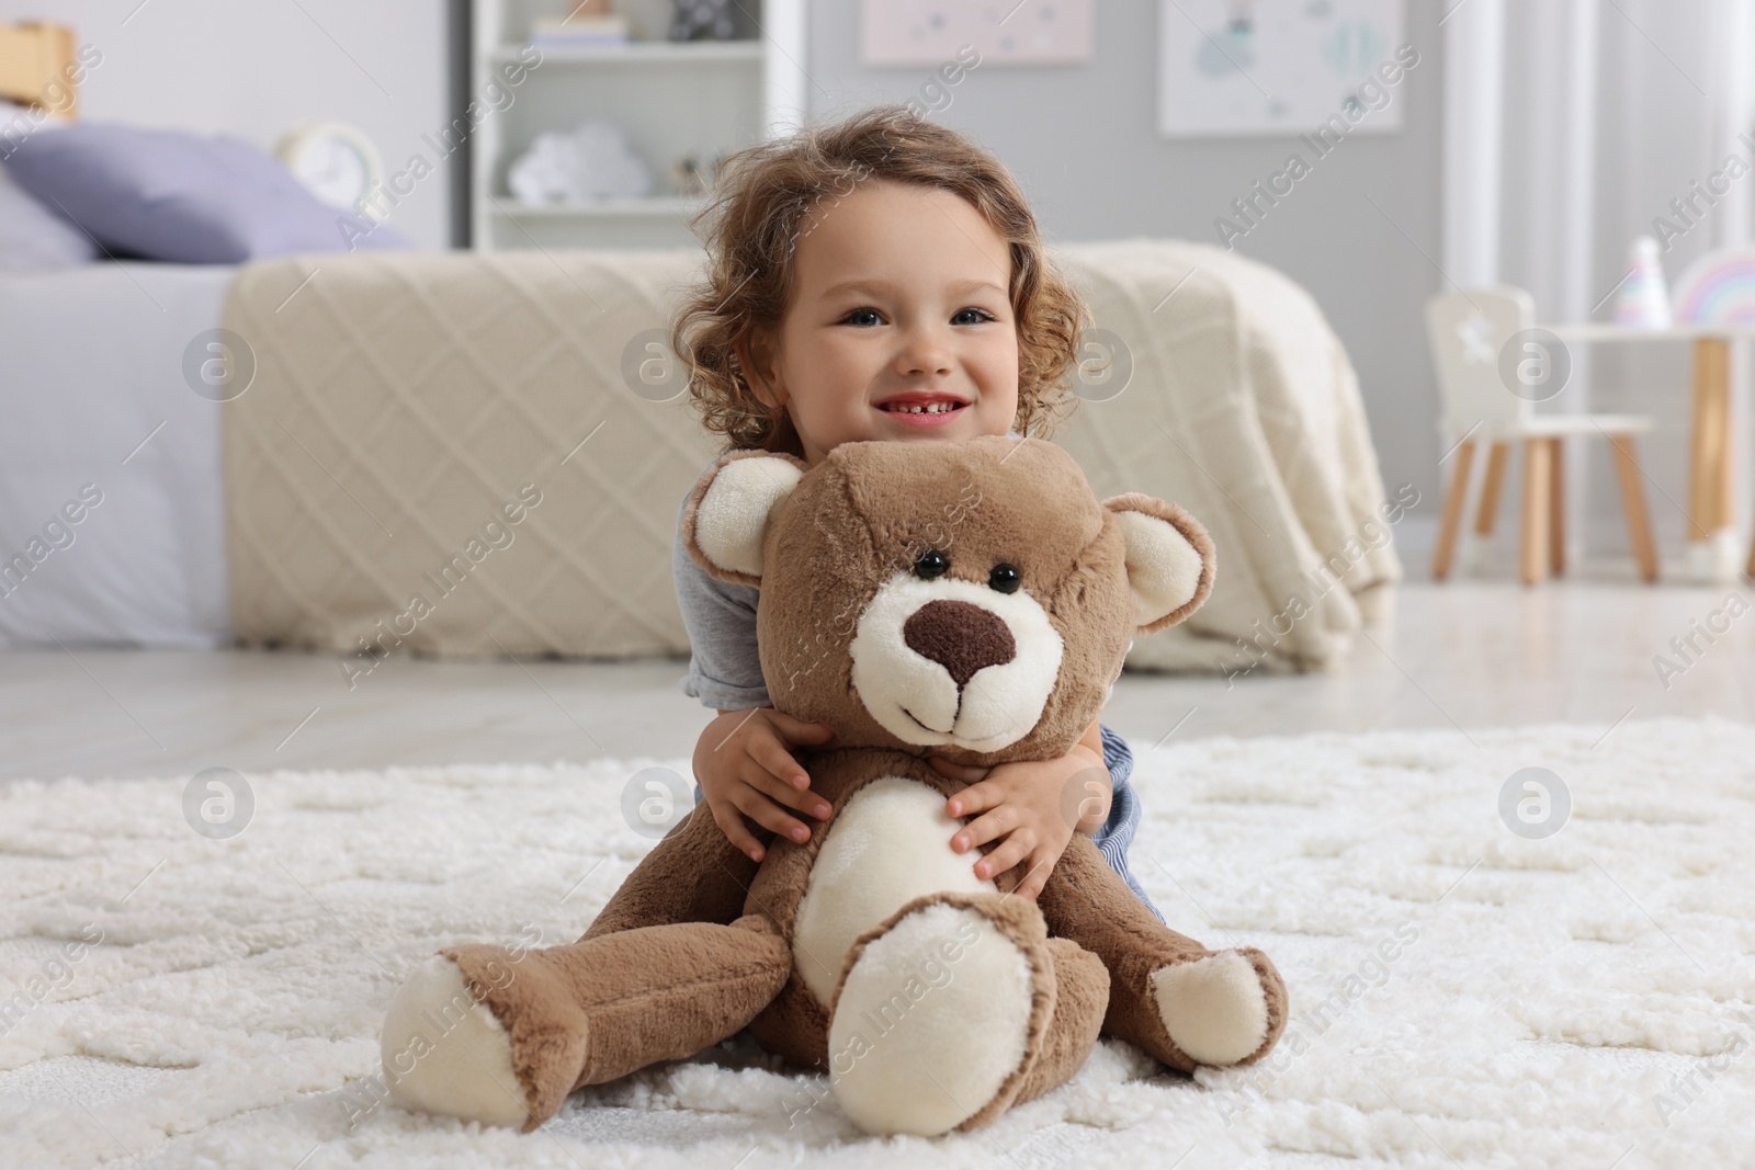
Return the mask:
[[[219,407],[188,388],[183,353],[219,325],[232,274],[0,277],[0,646],[230,637]],[[68,524],[84,484],[102,500]]]

